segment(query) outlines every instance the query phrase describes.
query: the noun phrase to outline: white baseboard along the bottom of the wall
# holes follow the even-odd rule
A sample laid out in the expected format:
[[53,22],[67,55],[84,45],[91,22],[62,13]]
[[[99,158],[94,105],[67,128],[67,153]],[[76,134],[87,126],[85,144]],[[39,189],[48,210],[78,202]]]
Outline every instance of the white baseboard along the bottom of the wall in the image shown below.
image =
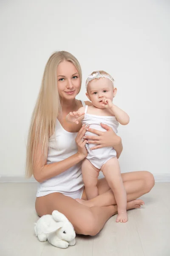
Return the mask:
[[[156,182],[170,182],[170,173],[153,175]],[[0,176],[0,183],[32,183],[37,182],[34,177],[27,179],[24,176]]]

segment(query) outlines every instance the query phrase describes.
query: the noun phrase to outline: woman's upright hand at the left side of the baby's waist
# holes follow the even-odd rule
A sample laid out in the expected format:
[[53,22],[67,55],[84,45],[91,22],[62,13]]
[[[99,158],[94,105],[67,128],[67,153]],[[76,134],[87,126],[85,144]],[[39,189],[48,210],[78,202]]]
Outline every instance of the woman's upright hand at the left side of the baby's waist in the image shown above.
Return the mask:
[[83,138],[86,131],[88,130],[88,127],[89,125],[88,126],[83,125],[82,128],[79,130],[77,137],[75,138],[75,141],[78,147],[77,154],[79,155],[80,158],[82,158],[82,160],[88,155],[88,151],[85,147],[85,144],[88,143],[88,141]]

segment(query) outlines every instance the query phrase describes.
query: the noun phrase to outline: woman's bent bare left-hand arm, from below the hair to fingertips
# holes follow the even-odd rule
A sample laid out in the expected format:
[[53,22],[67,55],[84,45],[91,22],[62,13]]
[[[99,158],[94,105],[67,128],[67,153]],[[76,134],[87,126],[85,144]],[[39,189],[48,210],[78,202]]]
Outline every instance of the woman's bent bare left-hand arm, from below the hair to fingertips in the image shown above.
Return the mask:
[[72,166],[79,163],[81,160],[83,160],[87,156],[87,150],[85,148],[85,144],[87,143],[87,140],[82,141],[82,137],[85,135],[85,132],[88,128],[85,128],[85,125],[82,126],[82,128],[79,130],[77,137],[76,137],[76,143],[78,147],[78,151],[76,154],[72,155],[71,157],[68,157],[65,160],[62,160],[57,163],[51,163],[51,164],[43,164],[43,158],[41,154],[40,148],[37,149],[35,152],[35,158],[37,159],[34,163],[34,170],[33,175],[34,178],[38,182],[43,182],[44,180],[48,180],[56,175],[59,175],[62,172],[65,172]]

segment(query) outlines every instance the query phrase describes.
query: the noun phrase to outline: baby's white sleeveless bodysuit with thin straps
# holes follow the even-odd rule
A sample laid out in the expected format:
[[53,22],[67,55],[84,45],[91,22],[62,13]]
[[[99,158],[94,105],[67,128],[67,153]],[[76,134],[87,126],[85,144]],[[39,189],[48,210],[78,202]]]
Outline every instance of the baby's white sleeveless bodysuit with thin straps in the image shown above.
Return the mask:
[[[88,106],[85,106],[85,117],[82,119],[82,124],[90,125],[90,128],[106,131],[100,123],[104,123],[105,125],[110,126],[113,131],[117,133],[117,128],[119,126],[119,122],[116,120],[115,116],[96,116],[92,114],[88,114]],[[87,136],[95,136],[96,134],[92,134],[87,131],[85,133]],[[98,135],[96,135],[98,136]],[[112,157],[116,157],[116,151],[113,147],[105,147],[105,148],[97,148],[94,150],[90,150],[90,148],[96,146],[96,144],[86,144],[86,148],[88,151],[88,156],[86,157],[96,168],[101,169],[102,165],[105,164]]]

